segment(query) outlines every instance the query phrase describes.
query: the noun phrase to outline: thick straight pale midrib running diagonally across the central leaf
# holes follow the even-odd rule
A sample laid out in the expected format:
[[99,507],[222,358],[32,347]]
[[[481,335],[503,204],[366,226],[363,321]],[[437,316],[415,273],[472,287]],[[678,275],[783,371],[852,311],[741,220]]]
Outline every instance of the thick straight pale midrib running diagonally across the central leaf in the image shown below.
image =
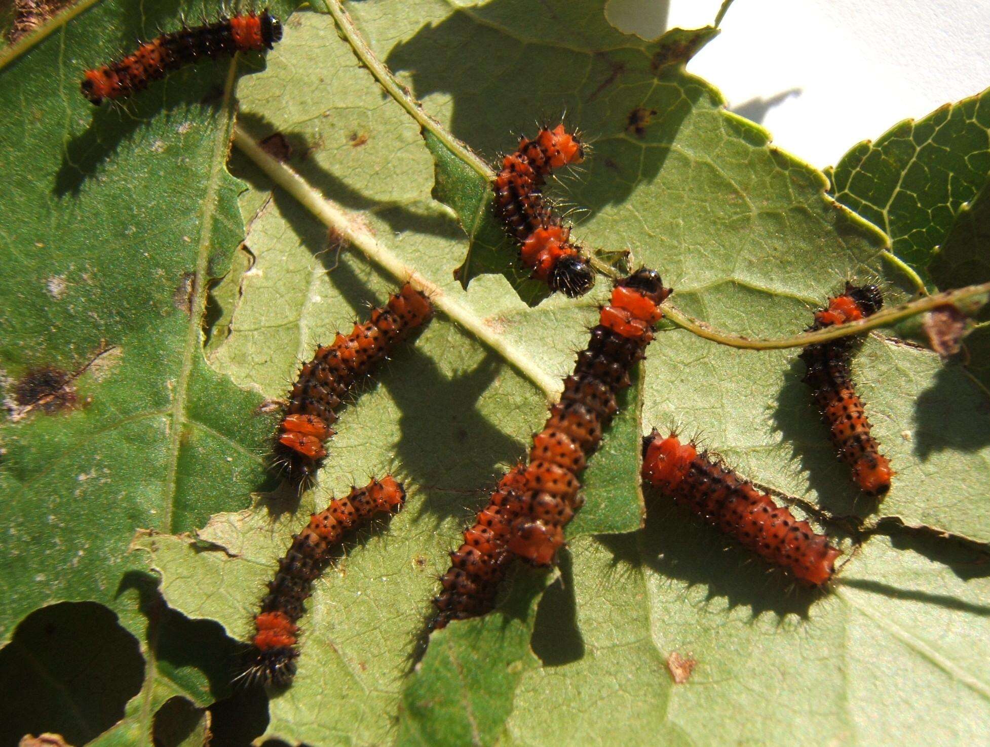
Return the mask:
[[240,127],[234,129],[234,144],[328,229],[347,240],[351,246],[399,282],[408,282],[417,290],[426,293],[434,306],[444,312],[448,319],[469,331],[515,366],[520,373],[543,390],[547,399],[556,399],[560,392],[560,382],[537,366],[533,356],[516,348],[493,331],[477,314],[454,300],[443,288],[403,262],[390,249],[379,243],[360,220],[348,214],[333,200],[320,194],[292,168],[265,152],[257,141]]

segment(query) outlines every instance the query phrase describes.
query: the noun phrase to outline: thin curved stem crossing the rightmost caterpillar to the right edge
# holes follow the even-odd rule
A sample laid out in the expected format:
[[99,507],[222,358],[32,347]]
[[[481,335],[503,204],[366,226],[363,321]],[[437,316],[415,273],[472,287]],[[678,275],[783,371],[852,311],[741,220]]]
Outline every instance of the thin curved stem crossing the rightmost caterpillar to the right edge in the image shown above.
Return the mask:
[[678,311],[675,307],[666,304],[663,306],[663,316],[677,327],[687,329],[699,337],[704,337],[705,339],[710,339],[713,342],[723,345],[739,347],[744,350],[780,350],[787,347],[805,347],[806,345],[817,342],[828,342],[829,340],[839,339],[849,334],[862,334],[876,327],[887,327],[895,322],[932,311],[940,306],[954,305],[959,301],[986,293],[990,293],[990,283],[956,288],[955,290],[945,291],[934,296],[925,296],[907,304],[895,306],[892,309],[886,309],[859,322],[850,322],[835,327],[825,327],[824,329],[818,329],[813,332],[803,332],[801,334],[793,334],[789,337],[777,337],[776,339],[753,339],[751,337],[743,337],[740,334],[720,332],[718,329],[713,329],[704,322],[699,322]]

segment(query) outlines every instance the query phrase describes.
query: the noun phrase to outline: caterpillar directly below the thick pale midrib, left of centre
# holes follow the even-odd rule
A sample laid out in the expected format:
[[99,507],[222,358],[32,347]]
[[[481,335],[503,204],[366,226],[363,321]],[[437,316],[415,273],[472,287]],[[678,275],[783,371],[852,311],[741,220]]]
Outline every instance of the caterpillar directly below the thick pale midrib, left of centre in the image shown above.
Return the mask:
[[317,348],[313,360],[299,370],[275,435],[275,465],[290,482],[300,488],[312,483],[327,456],[324,444],[334,435],[335,411],[347,392],[432,315],[427,297],[407,283],[384,307],[372,309],[367,322],[355,324],[349,334],[338,332],[333,344]]

